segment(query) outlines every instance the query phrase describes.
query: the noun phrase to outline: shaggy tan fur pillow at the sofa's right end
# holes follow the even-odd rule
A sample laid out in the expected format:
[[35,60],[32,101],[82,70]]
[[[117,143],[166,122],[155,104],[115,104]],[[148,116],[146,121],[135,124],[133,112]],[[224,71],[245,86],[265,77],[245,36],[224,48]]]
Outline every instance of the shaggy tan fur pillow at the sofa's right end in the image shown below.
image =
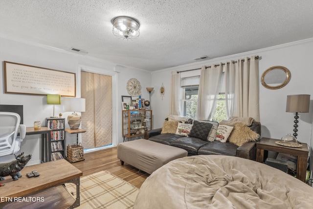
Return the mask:
[[260,135],[252,131],[249,127],[242,123],[234,125],[234,129],[229,137],[229,142],[241,146],[248,141],[256,141],[260,138]]

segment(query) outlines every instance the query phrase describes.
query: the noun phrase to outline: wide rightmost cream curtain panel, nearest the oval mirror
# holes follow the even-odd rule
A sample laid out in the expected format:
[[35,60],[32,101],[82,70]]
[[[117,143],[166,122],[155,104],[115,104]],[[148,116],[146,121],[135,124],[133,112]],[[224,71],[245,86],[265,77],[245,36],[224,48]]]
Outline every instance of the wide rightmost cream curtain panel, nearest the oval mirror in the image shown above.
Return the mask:
[[252,117],[260,121],[259,60],[252,56],[244,61],[224,65],[227,116]]

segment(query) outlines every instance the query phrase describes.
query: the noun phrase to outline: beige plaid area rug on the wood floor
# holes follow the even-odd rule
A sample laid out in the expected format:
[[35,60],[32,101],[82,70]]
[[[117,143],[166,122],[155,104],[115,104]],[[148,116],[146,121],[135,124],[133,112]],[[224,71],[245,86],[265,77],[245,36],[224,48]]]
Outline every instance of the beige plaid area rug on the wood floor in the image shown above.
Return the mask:
[[[76,197],[76,186],[65,185]],[[80,179],[79,209],[133,209],[138,188],[108,171]]]

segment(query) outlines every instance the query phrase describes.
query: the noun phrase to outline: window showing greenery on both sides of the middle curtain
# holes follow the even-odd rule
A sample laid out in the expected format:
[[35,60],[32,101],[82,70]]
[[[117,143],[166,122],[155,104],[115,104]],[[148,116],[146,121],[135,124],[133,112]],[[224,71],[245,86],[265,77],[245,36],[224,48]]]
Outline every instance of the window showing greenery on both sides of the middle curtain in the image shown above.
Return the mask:
[[[222,74],[222,81],[224,81],[224,73]],[[181,79],[183,116],[196,118],[199,83],[200,76],[185,77]],[[224,86],[224,82],[222,82],[212,120],[221,121],[227,119]]]

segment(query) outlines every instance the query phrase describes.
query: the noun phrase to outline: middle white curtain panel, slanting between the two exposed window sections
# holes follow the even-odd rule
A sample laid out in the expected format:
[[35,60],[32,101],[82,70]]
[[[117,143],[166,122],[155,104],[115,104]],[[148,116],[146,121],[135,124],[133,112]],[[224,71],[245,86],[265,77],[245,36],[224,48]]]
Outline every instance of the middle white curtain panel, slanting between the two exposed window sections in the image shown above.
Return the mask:
[[196,119],[211,120],[216,107],[222,77],[222,63],[209,68],[202,66]]

